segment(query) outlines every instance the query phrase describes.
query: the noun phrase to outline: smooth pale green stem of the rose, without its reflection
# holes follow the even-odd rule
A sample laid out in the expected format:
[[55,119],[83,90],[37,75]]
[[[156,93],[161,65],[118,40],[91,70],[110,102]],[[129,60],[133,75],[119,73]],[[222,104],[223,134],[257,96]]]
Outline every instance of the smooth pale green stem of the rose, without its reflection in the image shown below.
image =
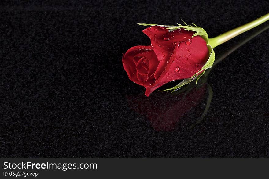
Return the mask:
[[210,38],[208,44],[212,46],[212,48],[215,48],[216,46],[238,36],[239,34],[242,34],[264,22],[269,20],[269,13],[265,14],[264,16],[261,16],[260,18],[253,20],[252,22],[249,22],[245,25],[242,25],[240,27],[237,27],[233,30],[229,30],[228,32],[225,32],[217,37]]

